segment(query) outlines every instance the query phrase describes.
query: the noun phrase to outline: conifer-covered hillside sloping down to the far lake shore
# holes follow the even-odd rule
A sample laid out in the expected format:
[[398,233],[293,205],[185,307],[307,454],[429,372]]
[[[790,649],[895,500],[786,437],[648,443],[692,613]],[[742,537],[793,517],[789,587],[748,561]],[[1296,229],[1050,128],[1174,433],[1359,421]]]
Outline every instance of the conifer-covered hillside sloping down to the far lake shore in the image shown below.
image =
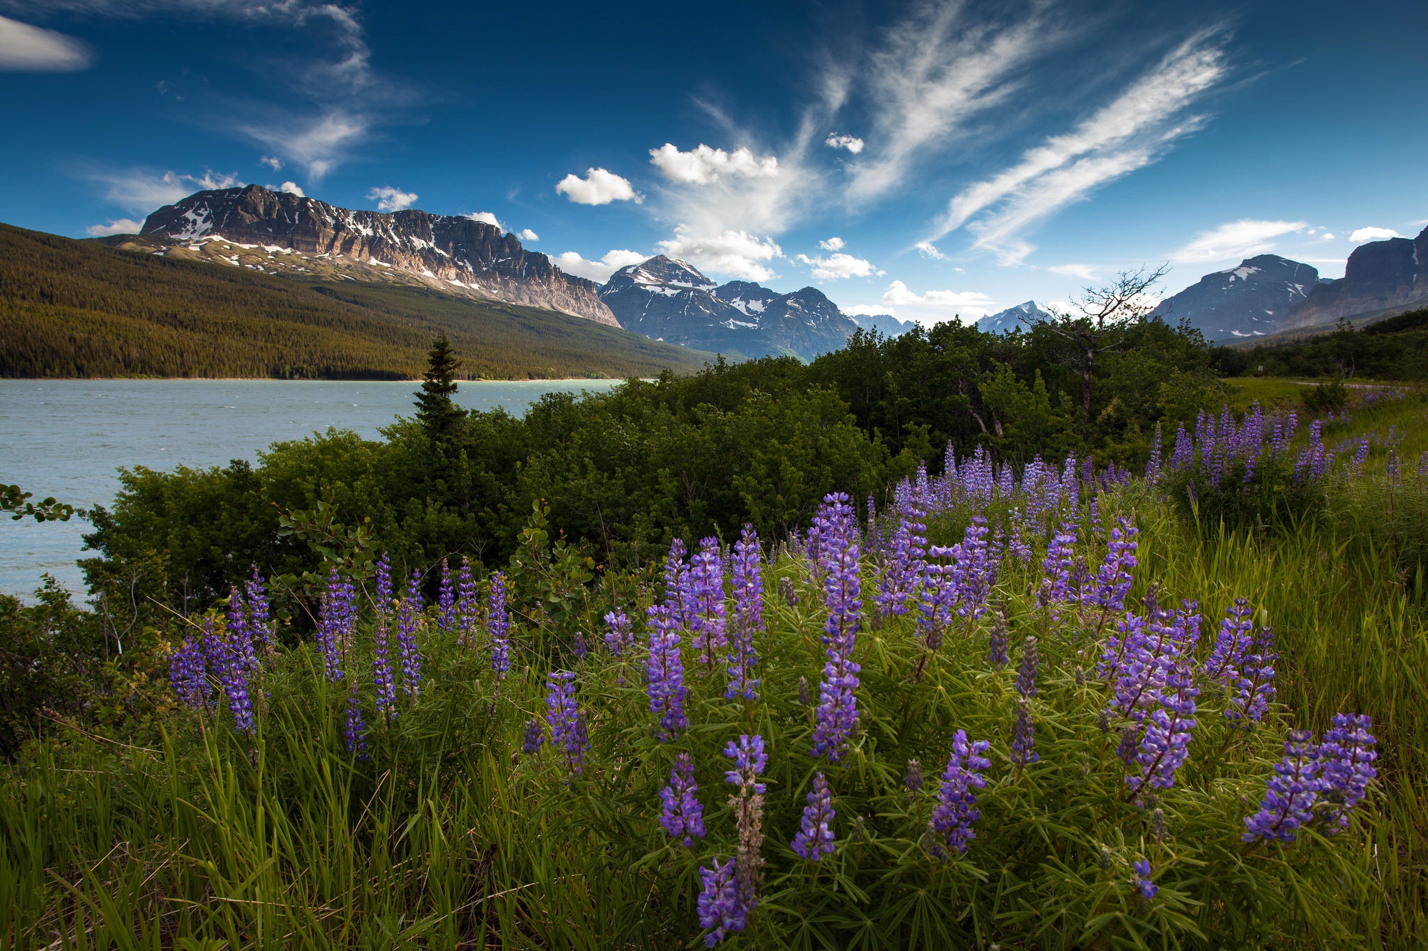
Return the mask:
[[271,277],[0,225],[0,376],[421,375],[446,332],[490,378],[645,376],[707,354],[416,287]]

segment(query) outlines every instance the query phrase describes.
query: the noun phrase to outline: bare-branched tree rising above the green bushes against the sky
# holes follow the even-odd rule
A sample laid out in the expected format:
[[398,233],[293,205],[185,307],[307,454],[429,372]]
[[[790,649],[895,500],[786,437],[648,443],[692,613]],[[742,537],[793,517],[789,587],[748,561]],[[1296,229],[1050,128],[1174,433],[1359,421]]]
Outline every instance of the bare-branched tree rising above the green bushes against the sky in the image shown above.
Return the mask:
[[1118,349],[1125,338],[1154,309],[1147,292],[1170,272],[1170,265],[1150,271],[1121,271],[1098,288],[1085,288],[1071,301],[1071,309],[1052,309],[1040,327],[1067,341],[1071,359],[1081,371],[1081,413],[1091,418],[1091,371],[1101,354]]

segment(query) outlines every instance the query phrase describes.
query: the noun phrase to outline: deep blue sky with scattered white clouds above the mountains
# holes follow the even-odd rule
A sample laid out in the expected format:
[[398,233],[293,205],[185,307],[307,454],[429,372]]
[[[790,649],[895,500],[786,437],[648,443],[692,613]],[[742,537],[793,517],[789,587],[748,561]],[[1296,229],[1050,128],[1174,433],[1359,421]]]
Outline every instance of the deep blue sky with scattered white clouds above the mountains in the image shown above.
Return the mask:
[[0,221],[256,183],[935,324],[1428,224],[1428,4],[0,0]]

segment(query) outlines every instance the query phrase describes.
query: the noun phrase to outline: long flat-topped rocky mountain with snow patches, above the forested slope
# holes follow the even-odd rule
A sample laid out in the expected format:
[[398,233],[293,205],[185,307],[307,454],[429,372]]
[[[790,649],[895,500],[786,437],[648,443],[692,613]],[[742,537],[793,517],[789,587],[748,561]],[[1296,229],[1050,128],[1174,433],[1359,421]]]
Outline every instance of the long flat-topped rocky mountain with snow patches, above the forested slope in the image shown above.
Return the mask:
[[[388,282],[394,275],[380,272],[400,271],[396,282],[618,327],[594,281],[565,274],[496,225],[457,215],[351,211],[244,185],[164,205],[144,220],[140,237],[164,245],[164,255],[198,254],[256,271]],[[228,247],[206,247],[214,241]]]

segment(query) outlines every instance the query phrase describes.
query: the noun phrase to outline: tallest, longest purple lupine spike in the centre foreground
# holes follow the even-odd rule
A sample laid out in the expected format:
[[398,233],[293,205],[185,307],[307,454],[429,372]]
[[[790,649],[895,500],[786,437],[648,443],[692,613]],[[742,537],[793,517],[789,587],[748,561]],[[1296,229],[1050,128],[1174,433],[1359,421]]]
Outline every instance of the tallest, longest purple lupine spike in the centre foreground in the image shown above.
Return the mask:
[[853,660],[853,647],[863,607],[863,580],[858,575],[857,519],[848,496],[838,492],[824,498],[814,522],[821,539],[824,595],[828,605],[823,636],[828,660],[818,686],[813,754],[838,761],[858,724],[858,700],[854,692],[858,689],[861,667]]

